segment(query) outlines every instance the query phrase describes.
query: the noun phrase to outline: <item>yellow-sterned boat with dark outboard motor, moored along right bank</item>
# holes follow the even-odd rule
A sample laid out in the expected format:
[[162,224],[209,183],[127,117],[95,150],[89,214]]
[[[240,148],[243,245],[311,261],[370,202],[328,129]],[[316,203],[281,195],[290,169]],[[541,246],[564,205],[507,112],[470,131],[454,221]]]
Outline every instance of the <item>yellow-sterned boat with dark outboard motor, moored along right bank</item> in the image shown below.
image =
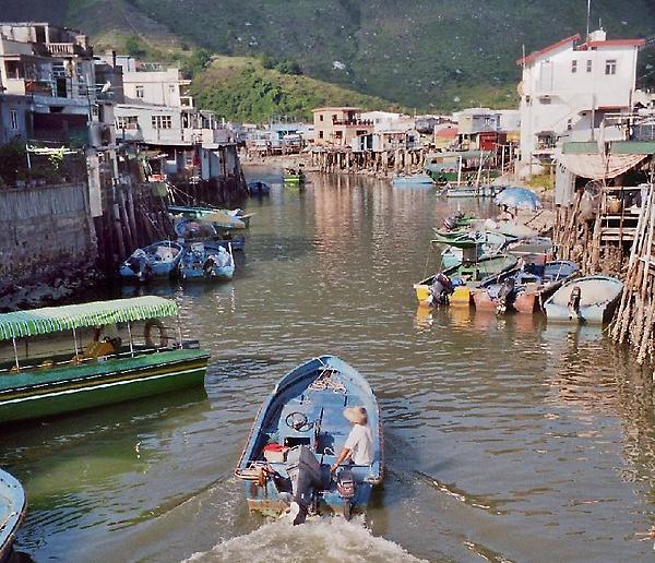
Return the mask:
[[[483,257],[477,262],[466,262],[445,269],[443,274],[450,278],[454,292],[450,296],[452,304],[472,304],[471,289],[478,287],[480,282],[489,276],[512,269],[516,265],[516,257],[509,254],[497,254]],[[429,304],[430,286],[434,282],[434,274],[418,284],[414,284],[414,291],[419,303]]]

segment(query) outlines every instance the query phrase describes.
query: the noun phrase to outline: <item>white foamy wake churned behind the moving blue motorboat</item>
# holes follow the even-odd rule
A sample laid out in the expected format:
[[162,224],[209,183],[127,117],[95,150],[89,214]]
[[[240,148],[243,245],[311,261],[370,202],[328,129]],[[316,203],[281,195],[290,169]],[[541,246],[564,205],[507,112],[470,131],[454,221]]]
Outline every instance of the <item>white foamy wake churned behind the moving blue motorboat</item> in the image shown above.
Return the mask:
[[188,562],[406,562],[421,561],[401,546],[373,536],[364,517],[346,522],[335,517],[311,517],[291,526],[287,517],[264,524],[257,530],[198,552]]

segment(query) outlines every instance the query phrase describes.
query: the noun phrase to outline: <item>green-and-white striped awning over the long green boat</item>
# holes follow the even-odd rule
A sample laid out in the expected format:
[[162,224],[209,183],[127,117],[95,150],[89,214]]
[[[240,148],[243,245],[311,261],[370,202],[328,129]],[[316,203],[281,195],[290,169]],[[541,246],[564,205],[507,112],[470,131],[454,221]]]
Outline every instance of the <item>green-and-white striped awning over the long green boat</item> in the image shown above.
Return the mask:
[[0,339],[157,319],[177,312],[175,301],[155,296],[15,311],[0,314]]

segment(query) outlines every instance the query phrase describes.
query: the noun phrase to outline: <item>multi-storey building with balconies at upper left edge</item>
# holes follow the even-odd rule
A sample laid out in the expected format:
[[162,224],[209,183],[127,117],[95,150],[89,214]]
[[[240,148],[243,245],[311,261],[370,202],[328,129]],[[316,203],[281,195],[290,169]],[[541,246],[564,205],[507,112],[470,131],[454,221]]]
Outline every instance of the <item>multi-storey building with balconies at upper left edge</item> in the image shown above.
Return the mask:
[[86,35],[47,23],[0,23],[3,141],[112,146],[111,100],[102,87]]

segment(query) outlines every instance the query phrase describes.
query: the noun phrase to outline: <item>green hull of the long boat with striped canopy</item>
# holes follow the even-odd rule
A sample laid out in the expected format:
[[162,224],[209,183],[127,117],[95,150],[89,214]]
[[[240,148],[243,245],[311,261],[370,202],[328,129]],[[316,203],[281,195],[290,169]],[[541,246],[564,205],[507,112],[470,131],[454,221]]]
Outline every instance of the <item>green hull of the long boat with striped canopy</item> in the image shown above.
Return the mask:
[[202,385],[209,355],[169,350],[48,371],[24,370],[0,388],[0,423],[39,419]]

